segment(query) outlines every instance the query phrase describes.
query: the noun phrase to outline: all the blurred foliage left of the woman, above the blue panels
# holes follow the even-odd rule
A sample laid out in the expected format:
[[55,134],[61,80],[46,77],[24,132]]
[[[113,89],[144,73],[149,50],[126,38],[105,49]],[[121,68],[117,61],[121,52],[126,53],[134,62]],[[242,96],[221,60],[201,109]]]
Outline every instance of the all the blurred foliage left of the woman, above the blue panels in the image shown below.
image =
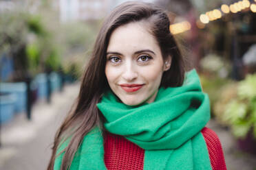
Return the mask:
[[[1,12],[0,59],[1,53],[13,58],[14,73],[18,76],[65,67],[66,72],[80,77],[82,64],[89,56],[80,54],[92,49],[99,21],[61,23],[58,11],[50,3],[36,4],[34,11],[15,8]],[[72,61],[74,56],[83,62]],[[67,64],[61,66],[64,63]]]

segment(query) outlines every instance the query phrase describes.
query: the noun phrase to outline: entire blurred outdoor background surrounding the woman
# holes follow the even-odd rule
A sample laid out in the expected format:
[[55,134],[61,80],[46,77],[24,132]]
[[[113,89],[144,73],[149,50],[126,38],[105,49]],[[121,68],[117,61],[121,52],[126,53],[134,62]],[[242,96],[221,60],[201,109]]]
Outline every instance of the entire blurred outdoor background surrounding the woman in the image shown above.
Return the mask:
[[[0,1],[0,169],[46,169],[104,17],[123,0]],[[200,73],[227,169],[256,169],[256,0],[151,0]]]

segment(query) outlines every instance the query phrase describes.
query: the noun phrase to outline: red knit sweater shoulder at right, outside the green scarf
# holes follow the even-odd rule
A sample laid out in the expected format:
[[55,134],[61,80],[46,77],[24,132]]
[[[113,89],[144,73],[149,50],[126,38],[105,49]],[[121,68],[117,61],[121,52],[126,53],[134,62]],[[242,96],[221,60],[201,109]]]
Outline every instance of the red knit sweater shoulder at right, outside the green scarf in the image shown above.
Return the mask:
[[206,142],[206,146],[209,152],[211,167],[213,168],[213,170],[226,170],[226,163],[219,137],[209,127],[204,127],[201,132],[204,136],[204,140]]

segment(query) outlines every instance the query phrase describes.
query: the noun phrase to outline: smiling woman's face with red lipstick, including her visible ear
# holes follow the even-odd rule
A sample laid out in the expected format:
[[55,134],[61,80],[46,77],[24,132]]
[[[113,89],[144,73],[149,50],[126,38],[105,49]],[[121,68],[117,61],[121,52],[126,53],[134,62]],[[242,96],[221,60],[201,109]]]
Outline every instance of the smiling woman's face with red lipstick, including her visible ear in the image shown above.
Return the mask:
[[124,104],[153,102],[162,73],[170,65],[171,57],[163,61],[158,42],[142,22],[122,25],[111,34],[105,74],[111,90]]

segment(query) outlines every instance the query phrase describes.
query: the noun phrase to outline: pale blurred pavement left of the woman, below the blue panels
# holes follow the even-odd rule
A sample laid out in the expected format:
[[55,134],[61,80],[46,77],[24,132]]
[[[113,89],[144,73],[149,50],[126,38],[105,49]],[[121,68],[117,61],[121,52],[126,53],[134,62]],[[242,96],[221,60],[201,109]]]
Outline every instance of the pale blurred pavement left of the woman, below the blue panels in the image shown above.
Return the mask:
[[45,170],[51,156],[54,134],[78,95],[79,84],[65,86],[32,108],[32,120],[21,113],[1,128],[0,169]]

